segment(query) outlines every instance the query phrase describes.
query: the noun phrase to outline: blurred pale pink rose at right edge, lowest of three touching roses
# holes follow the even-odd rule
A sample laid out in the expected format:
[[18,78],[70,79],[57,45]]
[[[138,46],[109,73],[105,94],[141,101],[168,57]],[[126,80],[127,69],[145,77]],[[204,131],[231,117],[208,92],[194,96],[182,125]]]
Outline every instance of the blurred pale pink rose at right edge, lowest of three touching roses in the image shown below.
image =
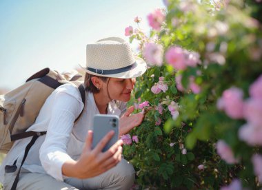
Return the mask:
[[239,129],[239,139],[248,143],[248,145],[262,145],[262,127],[261,125],[252,125],[246,123]]

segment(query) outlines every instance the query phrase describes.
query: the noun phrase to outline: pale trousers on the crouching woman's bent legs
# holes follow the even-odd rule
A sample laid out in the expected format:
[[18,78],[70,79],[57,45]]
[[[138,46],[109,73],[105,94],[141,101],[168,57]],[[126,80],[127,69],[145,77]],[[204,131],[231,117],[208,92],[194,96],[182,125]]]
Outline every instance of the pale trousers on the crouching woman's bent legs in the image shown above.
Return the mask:
[[[18,169],[17,169],[18,170]],[[9,190],[12,187],[16,171],[6,173],[3,182],[3,189]],[[50,190],[50,189],[130,189],[134,183],[134,168],[122,158],[116,167],[105,171],[99,176],[88,179],[68,178],[59,182],[43,173],[20,173],[17,190]]]

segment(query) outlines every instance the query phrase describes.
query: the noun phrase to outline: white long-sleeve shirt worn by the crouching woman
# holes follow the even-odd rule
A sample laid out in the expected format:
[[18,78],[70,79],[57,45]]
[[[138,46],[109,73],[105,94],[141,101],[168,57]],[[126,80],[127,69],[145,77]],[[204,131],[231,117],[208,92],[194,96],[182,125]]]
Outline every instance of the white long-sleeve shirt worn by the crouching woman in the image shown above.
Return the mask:
[[[61,167],[66,160],[77,160],[81,155],[88,130],[92,129],[92,120],[99,114],[92,93],[85,93],[85,107],[79,89],[73,85],[61,85],[47,98],[39,112],[35,123],[28,131],[47,131],[40,136],[31,147],[23,169],[30,172],[48,173],[57,180],[63,180]],[[81,110],[81,118],[74,123]],[[121,116],[125,112],[126,103],[111,101],[108,114]],[[32,137],[16,140],[0,167],[0,182],[3,182],[4,167],[17,160],[21,164],[26,145]]]

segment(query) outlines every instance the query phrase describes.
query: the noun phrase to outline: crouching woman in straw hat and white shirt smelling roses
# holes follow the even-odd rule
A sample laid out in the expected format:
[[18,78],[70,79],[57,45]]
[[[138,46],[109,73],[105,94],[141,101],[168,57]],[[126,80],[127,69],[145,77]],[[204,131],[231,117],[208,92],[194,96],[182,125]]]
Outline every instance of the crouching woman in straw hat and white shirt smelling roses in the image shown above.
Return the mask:
[[[94,114],[121,116],[119,134],[126,134],[141,124],[143,114],[125,112],[126,102],[134,88],[135,77],[146,70],[143,59],[132,54],[123,39],[110,37],[87,45],[85,74],[85,107],[77,87],[61,85],[41,108],[33,131],[47,130],[30,149],[24,162],[17,189],[130,189],[134,169],[121,159],[123,141],[117,141],[102,152],[113,136],[110,131],[99,144],[92,145]],[[79,116],[81,118],[74,123]],[[4,166],[15,160],[19,166],[23,149],[30,138],[17,140],[1,165],[0,179],[6,189],[12,187],[17,171],[4,172]]]

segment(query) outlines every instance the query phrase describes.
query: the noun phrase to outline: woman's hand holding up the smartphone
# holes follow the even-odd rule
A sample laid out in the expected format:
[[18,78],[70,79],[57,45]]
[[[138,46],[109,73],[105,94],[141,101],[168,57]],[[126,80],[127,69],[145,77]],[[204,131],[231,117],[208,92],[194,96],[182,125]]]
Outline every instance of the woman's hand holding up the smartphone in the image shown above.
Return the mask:
[[92,178],[108,171],[121,161],[123,140],[118,140],[108,151],[102,152],[103,147],[112,138],[114,131],[110,131],[97,144],[92,146],[92,131],[88,131],[88,138],[79,160],[68,160],[62,166],[63,175],[74,178]]

